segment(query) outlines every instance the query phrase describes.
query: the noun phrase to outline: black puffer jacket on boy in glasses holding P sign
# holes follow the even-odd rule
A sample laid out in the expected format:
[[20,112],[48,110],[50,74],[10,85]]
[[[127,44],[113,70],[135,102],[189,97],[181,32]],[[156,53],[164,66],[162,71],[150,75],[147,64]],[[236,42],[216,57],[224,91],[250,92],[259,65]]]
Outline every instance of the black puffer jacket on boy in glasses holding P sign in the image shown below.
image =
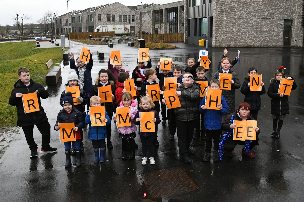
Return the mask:
[[199,84],[193,83],[188,88],[181,84],[176,91],[181,91],[181,96],[178,96],[181,107],[174,108],[175,119],[178,121],[197,119],[199,114]]

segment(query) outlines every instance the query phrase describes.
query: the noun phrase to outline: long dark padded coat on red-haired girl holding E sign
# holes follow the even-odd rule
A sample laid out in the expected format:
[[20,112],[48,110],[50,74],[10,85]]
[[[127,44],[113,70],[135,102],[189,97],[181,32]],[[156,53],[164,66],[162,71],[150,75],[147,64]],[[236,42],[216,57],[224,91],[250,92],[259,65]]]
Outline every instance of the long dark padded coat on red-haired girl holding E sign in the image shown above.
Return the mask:
[[[223,73],[223,68],[219,68],[219,71],[217,71],[213,78],[219,79],[219,73]],[[231,84],[231,90],[222,90],[222,95],[226,99],[227,105],[228,105],[228,112],[227,114],[235,112],[235,89],[238,89],[241,87],[240,80],[237,77],[237,73],[235,73],[231,68],[229,69],[229,74],[232,74],[232,80],[234,81],[234,84]]]

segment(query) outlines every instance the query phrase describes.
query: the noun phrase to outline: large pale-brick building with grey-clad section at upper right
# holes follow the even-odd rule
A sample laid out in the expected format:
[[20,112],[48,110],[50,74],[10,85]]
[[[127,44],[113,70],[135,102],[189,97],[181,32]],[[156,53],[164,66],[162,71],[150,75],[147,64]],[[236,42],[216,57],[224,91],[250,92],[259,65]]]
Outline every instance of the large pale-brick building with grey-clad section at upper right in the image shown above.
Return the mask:
[[185,0],[185,43],[212,47],[303,46],[304,1]]

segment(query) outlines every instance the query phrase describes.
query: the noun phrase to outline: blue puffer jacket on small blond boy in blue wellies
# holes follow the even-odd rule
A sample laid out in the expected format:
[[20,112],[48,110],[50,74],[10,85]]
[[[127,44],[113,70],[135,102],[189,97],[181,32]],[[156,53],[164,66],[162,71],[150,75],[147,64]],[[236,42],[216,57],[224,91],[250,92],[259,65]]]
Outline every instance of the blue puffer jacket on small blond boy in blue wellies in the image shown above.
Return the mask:
[[[108,116],[108,113],[105,112],[105,118],[108,119],[106,125],[111,124],[111,119]],[[89,140],[102,140],[107,138],[107,127],[106,126],[91,126],[90,116],[87,114],[85,118],[85,123],[89,124],[88,139]]]

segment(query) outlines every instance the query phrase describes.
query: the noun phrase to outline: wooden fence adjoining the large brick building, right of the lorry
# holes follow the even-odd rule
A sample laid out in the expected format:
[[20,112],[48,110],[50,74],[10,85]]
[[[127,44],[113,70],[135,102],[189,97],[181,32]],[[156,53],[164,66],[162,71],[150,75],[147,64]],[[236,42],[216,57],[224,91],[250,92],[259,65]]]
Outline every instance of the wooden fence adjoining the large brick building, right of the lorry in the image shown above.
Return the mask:
[[[140,35],[137,35],[140,38]],[[170,33],[170,34],[143,34],[145,43],[154,42],[168,43],[168,42],[184,42],[184,33]]]

